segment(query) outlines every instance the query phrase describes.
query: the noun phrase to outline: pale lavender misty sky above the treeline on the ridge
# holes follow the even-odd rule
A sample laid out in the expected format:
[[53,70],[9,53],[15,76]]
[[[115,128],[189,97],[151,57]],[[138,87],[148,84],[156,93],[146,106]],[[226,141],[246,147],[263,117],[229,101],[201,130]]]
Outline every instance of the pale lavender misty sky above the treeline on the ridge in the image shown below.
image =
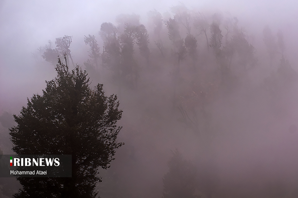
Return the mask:
[[[183,1],[189,9],[202,12],[230,12],[243,18],[248,27],[262,29],[264,25],[286,26],[296,32],[298,3],[296,1]],[[141,23],[147,23],[147,12],[162,14],[179,1],[0,1],[0,111],[13,111],[9,103],[26,104],[26,98],[45,87],[45,80],[55,77],[53,68],[34,64],[32,53],[48,40],[72,35],[74,61],[87,56],[84,35],[98,37],[100,24],[114,22],[121,13],[136,13]],[[249,21],[251,20],[251,21]],[[251,24],[249,24],[251,22]],[[253,24],[252,24],[253,23]],[[290,24],[288,25],[287,24]],[[249,26],[250,25],[250,26]],[[259,27],[258,27],[259,25]],[[99,39],[100,40],[100,39]],[[295,45],[295,44],[293,44]],[[40,71],[43,71],[39,73]],[[39,73],[37,75],[37,72]],[[50,73],[50,75],[46,74]]]

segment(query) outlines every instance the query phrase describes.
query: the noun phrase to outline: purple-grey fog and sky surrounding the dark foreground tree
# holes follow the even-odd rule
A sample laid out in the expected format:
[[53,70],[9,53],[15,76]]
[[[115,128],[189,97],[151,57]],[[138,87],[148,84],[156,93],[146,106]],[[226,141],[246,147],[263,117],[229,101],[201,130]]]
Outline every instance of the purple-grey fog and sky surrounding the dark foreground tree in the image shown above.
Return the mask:
[[[184,8],[190,29],[179,22]],[[163,20],[160,30],[152,13]],[[202,16],[207,39],[195,27]],[[110,169],[99,170],[100,197],[168,198],[165,175],[176,151],[196,170],[193,196],[297,197],[297,18],[296,1],[0,1],[0,148],[13,154],[12,115],[56,77],[55,64],[43,57],[48,41],[55,49],[56,38],[71,36],[69,57],[89,73],[91,87],[100,83],[106,95],[117,94],[123,110],[118,142],[125,145]],[[106,52],[110,65],[104,59],[105,22],[118,28],[122,51],[127,26],[148,31],[150,53],[134,41],[127,65],[135,66],[123,78],[125,69],[117,77],[111,63],[116,58]],[[88,35],[100,47],[98,66]],[[193,54],[187,35],[197,41]],[[2,197],[21,188],[2,179]]]

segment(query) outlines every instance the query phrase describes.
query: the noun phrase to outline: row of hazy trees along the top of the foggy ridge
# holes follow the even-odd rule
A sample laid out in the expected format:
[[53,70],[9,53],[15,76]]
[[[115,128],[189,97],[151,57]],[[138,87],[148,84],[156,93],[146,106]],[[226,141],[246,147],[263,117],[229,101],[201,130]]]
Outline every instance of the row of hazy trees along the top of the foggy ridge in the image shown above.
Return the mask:
[[[89,59],[84,62],[87,72],[97,73],[94,78],[108,73],[119,89],[137,89],[144,68],[158,65],[154,60],[171,61],[173,84],[181,77],[181,66],[193,68],[190,72],[200,73],[202,68],[208,67],[204,61],[211,59],[216,61],[220,73],[216,78],[221,84],[231,83],[231,79],[245,75],[258,65],[257,51],[248,41],[245,29],[239,27],[236,17],[218,13],[207,17],[201,12],[190,11],[183,4],[171,10],[174,17],[166,20],[156,10],[148,12],[149,22],[153,26],[149,31],[152,34],[151,43],[148,30],[140,24],[138,15],[119,15],[116,20],[118,26],[110,22],[102,23],[99,27],[102,53],[96,36],[89,34],[84,37],[86,45],[90,47]],[[277,57],[285,58],[281,30],[277,32],[277,41],[268,26],[264,28],[262,37],[271,66]],[[70,59],[74,66],[71,43],[72,36],[66,35],[56,38],[55,49],[49,41],[44,51],[40,48],[42,57],[56,65],[57,57],[66,53],[67,60]],[[175,99],[173,102],[176,105]]]

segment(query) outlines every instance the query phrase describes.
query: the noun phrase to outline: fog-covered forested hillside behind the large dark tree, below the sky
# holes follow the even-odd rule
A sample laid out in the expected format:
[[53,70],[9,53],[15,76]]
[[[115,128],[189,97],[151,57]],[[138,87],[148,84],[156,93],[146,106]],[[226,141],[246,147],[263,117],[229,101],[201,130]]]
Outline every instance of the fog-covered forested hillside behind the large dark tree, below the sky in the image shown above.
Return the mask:
[[[118,97],[124,144],[110,168],[98,169],[97,196],[297,197],[298,73],[288,29],[183,3],[169,10],[119,14],[96,23],[96,34],[62,33],[32,51],[43,80],[55,78],[59,57]],[[9,129],[20,111],[0,111],[2,154],[13,154]],[[0,197],[19,188],[0,178]]]

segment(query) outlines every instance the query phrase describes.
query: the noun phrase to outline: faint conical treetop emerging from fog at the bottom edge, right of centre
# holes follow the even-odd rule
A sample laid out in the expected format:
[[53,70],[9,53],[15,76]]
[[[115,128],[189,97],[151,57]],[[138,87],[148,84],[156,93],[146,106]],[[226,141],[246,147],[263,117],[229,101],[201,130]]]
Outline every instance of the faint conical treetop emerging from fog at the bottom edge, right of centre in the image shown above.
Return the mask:
[[168,161],[169,172],[164,175],[163,198],[196,198],[196,168],[182,158],[177,150]]

